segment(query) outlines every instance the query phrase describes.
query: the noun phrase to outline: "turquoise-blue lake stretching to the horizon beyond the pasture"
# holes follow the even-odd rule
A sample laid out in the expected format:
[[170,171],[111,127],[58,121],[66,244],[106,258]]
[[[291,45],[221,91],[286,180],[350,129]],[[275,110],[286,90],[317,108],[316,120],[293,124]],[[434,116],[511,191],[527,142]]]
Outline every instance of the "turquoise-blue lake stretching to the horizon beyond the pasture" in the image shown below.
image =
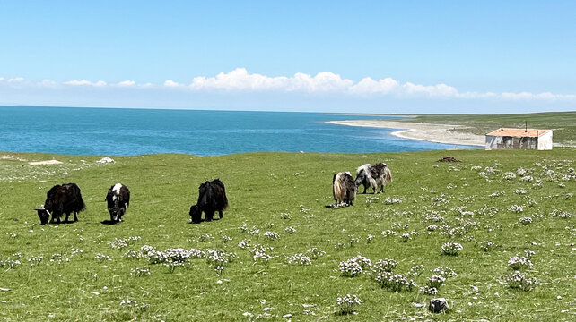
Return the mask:
[[[383,116],[317,113],[0,106],[0,151],[198,156],[253,151],[388,152],[454,148],[392,129],[326,123]],[[473,148],[458,146],[458,148]]]

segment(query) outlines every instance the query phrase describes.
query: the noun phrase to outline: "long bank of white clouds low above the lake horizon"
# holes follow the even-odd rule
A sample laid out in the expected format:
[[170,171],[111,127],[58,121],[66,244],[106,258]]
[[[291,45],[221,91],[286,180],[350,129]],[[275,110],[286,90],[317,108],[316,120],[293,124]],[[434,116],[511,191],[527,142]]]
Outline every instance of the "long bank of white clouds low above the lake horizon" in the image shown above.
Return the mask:
[[231,72],[220,72],[216,76],[196,76],[188,84],[174,80],[165,80],[162,84],[136,83],[123,80],[109,83],[104,80],[54,80],[29,81],[22,77],[4,79],[0,77],[0,86],[11,88],[65,89],[66,87],[93,88],[135,88],[135,89],[179,89],[189,92],[207,92],[217,95],[227,93],[303,93],[309,95],[345,95],[349,97],[396,97],[409,98],[457,98],[457,99],[496,99],[496,100],[542,100],[576,101],[576,94],[557,94],[551,92],[477,92],[459,91],[447,84],[423,85],[410,81],[401,83],[392,78],[373,80],[365,77],[359,81],[342,78],[334,72],[319,72],[310,75],[297,72],[293,76],[266,76],[250,73],[245,68],[236,68]]

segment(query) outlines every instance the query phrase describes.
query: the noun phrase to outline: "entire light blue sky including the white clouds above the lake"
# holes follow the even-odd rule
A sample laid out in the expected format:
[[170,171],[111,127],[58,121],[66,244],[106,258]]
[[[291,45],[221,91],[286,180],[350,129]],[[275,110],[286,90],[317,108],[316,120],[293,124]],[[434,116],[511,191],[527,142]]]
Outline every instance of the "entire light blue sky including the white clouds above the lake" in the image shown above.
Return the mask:
[[576,110],[576,2],[0,0],[0,105]]

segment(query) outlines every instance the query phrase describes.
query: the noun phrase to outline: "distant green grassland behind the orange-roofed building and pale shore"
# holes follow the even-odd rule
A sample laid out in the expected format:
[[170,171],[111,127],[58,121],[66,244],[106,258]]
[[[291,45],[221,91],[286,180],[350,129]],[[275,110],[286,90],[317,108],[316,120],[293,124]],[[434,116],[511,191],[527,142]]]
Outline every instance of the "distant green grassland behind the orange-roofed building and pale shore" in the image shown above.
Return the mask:
[[458,114],[458,115],[418,115],[409,122],[441,123],[465,125],[466,129],[456,130],[484,135],[502,127],[524,128],[528,122],[531,129],[554,130],[554,143],[576,147],[576,112],[550,112],[533,114]]

